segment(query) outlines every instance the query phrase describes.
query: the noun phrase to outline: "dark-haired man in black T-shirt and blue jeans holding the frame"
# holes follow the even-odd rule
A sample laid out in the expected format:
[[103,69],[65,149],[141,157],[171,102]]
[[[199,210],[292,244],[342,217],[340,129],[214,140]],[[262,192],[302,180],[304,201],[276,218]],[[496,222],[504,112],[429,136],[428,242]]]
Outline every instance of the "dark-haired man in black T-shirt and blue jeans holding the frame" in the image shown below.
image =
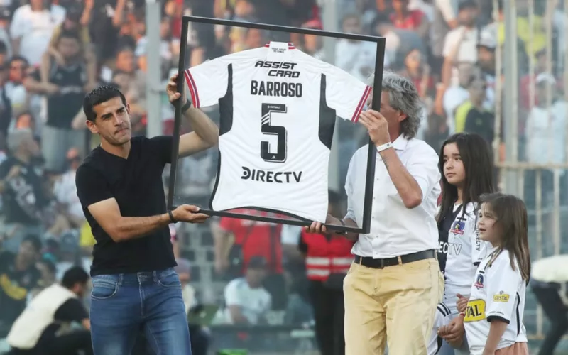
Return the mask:
[[[176,79],[167,87],[171,102],[181,97]],[[94,89],[83,109],[90,131],[101,138],[75,178],[97,240],[91,268],[94,354],[130,354],[141,328],[156,354],[191,354],[168,224],[204,222],[207,215],[187,204],[166,210],[162,172],[171,162],[173,137],[131,138],[129,105],[115,87]],[[180,157],[217,144],[217,126],[185,97],[182,112],[195,131],[180,136]]]

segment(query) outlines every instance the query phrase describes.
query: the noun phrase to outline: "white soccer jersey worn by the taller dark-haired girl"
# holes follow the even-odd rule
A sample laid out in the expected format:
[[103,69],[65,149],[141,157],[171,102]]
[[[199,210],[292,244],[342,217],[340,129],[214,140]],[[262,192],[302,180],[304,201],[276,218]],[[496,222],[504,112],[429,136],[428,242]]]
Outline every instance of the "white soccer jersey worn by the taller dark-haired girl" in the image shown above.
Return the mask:
[[448,241],[439,247],[446,255],[444,303],[457,315],[456,295],[469,295],[477,266],[484,259],[486,248],[491,246],[479,239],[476,204],[469,202],[465,213],[461,205],[455,206],[454,212],[458,213],[449,229]]

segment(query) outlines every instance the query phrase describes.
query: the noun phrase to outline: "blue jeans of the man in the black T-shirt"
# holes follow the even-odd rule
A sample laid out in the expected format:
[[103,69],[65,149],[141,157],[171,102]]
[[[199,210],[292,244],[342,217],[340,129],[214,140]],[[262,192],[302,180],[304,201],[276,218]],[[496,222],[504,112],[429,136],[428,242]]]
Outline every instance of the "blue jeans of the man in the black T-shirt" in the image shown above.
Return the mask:
[[181,283],[173,268],[92,278],[94,355],[131,354],[143,329],[155,354],[191,355]]

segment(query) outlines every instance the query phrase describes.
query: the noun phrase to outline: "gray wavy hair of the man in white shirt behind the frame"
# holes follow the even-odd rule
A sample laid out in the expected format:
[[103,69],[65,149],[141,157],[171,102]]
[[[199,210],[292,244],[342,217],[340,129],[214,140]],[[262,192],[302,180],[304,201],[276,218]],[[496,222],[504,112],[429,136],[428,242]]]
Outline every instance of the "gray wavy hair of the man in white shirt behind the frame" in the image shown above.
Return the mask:
[[[373,87],[375,73],[369,77]],[[388,92],[388,104],[406,114],[406,119],[400,122],[400,133],[407,139],[414,138],[420,129],[422,110],[424,106],[413,82],[394,72],[383,72],[383,92]]]

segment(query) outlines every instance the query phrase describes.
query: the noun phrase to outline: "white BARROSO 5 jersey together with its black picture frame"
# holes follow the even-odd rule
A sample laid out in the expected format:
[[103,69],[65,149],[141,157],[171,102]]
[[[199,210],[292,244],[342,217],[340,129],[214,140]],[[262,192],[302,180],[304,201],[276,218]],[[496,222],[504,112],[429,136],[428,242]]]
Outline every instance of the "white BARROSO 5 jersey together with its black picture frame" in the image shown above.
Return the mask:
[[[229,53],[188,68],[190,24],[192,28],[207,24],[216,29],[231,28],[231,35],[237,37],[239,31],[251,29],[268,35],[261,45],[251,45],[253,40],[249,39],[242,43],[234,40]],[[372,48],[373,61],[368,69],[376,73],[375,89],[351,71],[297,48],[291,41],[297,35],[372,44],[359,46],[356,53],[349,55],[361,62],[365,48]],[[244,48],[238,48],[239,43]],[[378,110],[374,103],[381,97],[384,48],[384,38],[366,35],[185,16],[178,88],[198,109],[218,106],[217,169],[208,205],[200,206],[201,211],[212,216],[299,226],[313,221],[325,223],[336,122],[355,125],[371,96],[373,109]],[[363,68],[355,72],[363,72]],[[180,203],[175,196],[182,188],[176,186],[180,106],[180,102],[175,105],[168,208]],[[353,228],[326,224],[329,229],[369,231],[376,149],[368,136],[365,142],[368,164],[361,225]],[[239,213],[242,209],[271,213]]]

